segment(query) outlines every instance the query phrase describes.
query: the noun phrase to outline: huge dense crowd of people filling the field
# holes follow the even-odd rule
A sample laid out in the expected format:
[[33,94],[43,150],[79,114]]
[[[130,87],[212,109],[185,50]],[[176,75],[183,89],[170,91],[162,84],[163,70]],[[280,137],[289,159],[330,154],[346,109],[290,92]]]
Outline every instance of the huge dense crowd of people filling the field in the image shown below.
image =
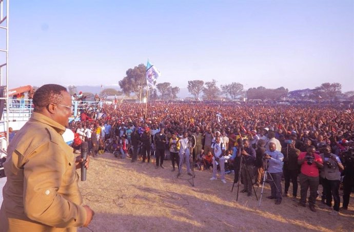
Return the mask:
[[170,159],[171,171],[177,167],[179,175],[187,160],[189,175],[191,167],[212,170],[211,180],[217,180],[219,171],[223,183],[225,172],[232,170],[234,182],[240,179],[244,185],[241,192],[248,196],[252,196],[252,185],[261,186],[267,171],[272,189],[268,198],[280,204],[283,197],[289,197],[291,182],[296,199],[300,182],[299,204],[306,205],[310,188],[308,203],[312,211],[316,211],[321,183],[321,200],[333,208],[333,215],[339,212],[344,175],[342,209],[348,207],[354,183],[354,117],[348,106],[227,102],[83,106],[77,115],[80,120],[70,123],[76,135],[73,147],[78,150],[87,141],[93,157],[109,152],[130,157],[132,162],[150,162],[154,156],[156,168],[165,168],[164,160]]

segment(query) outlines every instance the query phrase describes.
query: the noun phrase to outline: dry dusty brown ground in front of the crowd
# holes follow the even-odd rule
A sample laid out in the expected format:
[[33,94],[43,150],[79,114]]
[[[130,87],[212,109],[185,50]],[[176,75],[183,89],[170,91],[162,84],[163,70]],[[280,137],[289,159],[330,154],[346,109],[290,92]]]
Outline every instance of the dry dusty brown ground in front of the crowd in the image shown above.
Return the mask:
[[[80,186],[84,204],[95,216],[88,228],[78,231],[354,231],[353,196],[349,210],[333,217],[320,201],[316,213],[291,198],[275,205],[266,198],[266,184],[259,207],[254,194],[240,193],[236,201],[237,184],[231,193],[233,174],[226,175],[223,184],[210,181],[209,171],[195,171],[192,187],[185,168],[176,178],[171,161],[164,165],[156,170],[155,163],[131,163],[112,154],[91,159],[87,181]],[[256,190],[260,197],[261,188]]]

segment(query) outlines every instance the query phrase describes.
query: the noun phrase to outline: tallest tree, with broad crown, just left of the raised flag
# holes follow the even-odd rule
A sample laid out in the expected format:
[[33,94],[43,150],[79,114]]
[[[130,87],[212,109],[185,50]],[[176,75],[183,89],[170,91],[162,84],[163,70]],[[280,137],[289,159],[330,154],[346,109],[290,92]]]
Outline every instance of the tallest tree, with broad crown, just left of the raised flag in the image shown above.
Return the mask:
[[141,102],[146,87],[146,67],[143,64],[135,66],[133,69],[128,69],[126,76],[119,81],[119,86],[126,95],[130,93],[136,94]]

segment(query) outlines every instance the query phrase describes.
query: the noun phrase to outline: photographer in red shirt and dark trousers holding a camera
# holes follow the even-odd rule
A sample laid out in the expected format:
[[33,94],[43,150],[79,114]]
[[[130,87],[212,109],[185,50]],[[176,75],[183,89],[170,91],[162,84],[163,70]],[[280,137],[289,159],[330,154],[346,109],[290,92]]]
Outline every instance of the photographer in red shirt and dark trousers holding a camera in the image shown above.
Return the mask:
[[310,187],[310,196],[308,203],[310,210],[316,212],[314,208],[317,197],[317,190],[320,183],[319,170],[323,167],[323,161],[320,155],[316,154],[316,148],[310,145],[307,152],[302,152],[298,158],[298,164],[301,165],[300,177],[300,202],[301,206],[306,207],[307,189]]

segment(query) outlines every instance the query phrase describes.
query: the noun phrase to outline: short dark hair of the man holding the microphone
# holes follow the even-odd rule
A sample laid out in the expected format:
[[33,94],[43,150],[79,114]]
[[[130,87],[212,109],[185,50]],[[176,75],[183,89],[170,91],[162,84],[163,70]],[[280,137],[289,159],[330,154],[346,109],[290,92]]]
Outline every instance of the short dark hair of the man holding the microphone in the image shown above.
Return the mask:
[[61,103],[63,99],[62,91],[67,91],[65,87],[56,84],[47,84],[38,88],[33,96],[34,112],[41,111],[48,104]]

